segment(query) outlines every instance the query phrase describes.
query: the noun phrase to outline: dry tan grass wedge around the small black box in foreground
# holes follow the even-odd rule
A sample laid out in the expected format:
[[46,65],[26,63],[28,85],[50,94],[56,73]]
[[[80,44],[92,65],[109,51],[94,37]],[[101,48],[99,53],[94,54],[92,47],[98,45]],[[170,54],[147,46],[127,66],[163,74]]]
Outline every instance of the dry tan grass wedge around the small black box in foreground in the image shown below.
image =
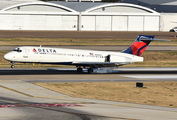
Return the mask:
[[177,107],[177,82],[34,83],[72,97]]

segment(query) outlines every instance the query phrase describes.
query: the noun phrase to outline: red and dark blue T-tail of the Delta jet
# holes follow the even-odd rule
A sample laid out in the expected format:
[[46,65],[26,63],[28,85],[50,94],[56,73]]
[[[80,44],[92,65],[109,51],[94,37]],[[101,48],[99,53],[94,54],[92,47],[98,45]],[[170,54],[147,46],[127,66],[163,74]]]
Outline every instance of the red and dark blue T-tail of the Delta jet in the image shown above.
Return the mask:
[[141,56],[147,46],[151,41],[169,41],[162,39],[154,39],[154,36],[150,35],[139,35],[136,40],[131,44],[126,50],[123,50],[122,53],[129,53],[137,56]]

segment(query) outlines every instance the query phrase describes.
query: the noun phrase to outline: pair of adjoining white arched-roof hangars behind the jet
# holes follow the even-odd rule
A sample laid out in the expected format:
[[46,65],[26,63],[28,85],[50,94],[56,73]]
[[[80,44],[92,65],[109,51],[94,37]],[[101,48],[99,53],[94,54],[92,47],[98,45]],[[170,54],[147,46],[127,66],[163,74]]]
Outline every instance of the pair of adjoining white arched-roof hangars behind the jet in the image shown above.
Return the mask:
[[0,30],[161,31],[160,23],[160,13],[129,3],[0,1]]

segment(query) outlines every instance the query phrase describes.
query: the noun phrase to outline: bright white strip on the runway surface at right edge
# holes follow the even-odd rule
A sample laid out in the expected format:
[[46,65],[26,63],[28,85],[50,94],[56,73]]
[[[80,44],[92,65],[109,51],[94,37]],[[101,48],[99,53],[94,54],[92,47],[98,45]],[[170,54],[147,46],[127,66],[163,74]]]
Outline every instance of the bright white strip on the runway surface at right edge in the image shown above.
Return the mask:
[[120,75],[137,79],[177,79],[177,75]]

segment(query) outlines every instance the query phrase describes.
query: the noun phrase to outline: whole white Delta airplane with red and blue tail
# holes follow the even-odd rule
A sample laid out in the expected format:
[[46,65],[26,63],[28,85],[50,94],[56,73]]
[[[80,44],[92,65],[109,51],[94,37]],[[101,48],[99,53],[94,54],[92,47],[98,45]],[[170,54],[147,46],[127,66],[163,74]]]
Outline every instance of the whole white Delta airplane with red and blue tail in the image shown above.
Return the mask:
[[49,47],[21,46],[4,55],[4,59],[12,63],[40,63],[73,65],[77,67],[77,72],[83,72],[83,68],[88,68],[88,73],[93,73],[93,69],[102,67],[118,67],[134,62],[143,62],[140,57],[151,41],[168,41],[154,39],[154,36],[139,35],[136,40],[121,52],[78,50]]

